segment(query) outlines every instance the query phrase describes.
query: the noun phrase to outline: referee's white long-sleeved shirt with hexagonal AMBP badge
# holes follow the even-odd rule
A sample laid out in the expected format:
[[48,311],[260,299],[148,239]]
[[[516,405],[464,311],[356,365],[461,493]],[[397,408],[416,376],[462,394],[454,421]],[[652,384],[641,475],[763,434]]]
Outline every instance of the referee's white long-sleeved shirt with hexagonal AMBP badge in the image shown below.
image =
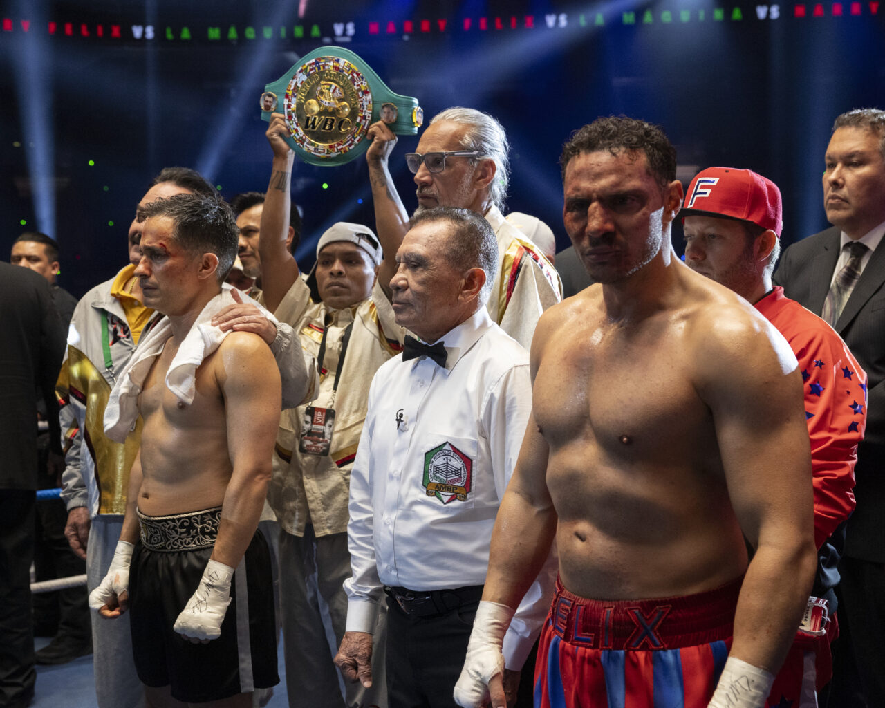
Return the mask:
[[[350,473],[347,631],[373,631],[383,585],[430,591],[486,580],[492,527],[531,413],[528,354],[485,308],[443,343],[444,368],[398,355],[372,381]],[[522,665],[540,630],[550,564],[543,575],[508,630],[507,666]]]

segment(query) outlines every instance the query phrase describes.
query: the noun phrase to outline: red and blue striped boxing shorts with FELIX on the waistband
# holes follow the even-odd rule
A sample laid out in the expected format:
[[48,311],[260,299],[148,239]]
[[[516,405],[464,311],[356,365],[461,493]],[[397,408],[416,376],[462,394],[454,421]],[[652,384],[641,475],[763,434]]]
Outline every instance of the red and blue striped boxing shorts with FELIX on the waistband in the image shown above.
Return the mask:
[[[604,601],[573,595],[557,579],[535,664],[535,708],[706,708],[731,649],[742,582]],[[816,705],[808,701],[829,678],[835,622],[829,629],[797,637],[766,706]]]

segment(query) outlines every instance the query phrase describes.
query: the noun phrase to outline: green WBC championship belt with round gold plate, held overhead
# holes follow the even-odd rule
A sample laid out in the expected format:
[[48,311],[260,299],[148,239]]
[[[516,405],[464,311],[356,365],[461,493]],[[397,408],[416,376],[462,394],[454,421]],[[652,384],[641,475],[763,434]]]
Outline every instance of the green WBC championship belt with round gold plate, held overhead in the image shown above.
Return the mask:
[[261,95],[261,119],[281,112],[298,158],[311,165],[343,165],[366,152],[369,126],[383,120],[398,135],[424,122],[417,98],[387,88],[361,58],[323,47],[302,58]]

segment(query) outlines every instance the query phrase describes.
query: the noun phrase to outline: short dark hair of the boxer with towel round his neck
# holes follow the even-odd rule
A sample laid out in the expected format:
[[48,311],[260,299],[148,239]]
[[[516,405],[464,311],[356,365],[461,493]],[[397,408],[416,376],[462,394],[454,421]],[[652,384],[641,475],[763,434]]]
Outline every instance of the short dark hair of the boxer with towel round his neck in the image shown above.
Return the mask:
[[193,254],[214,253],[219,258],[218,279],[224,281],[236,258],[239,229],[234,212],[216,196],[176,194],[140,207],[139,223],[152,217],[173,220],[172,236]]

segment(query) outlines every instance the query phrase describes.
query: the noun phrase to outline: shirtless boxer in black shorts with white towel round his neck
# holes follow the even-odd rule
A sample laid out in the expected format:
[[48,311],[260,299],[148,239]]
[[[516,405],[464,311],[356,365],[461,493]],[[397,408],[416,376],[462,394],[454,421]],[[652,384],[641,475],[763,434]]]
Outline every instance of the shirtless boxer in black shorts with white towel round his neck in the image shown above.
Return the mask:
[[258,335],[208,326],[213,308],[233,302],[222,289],[237,247],[227,205],[172,196],[139,219],[135,275],[144,304],[166,319],[142,337],[105,417],[119,436],[112,406],[119,401],[125,421],[137,395],[144,425],[120,543],[94,595],[105,617],[130,611],[150,705],[251,706],[253,689],[279,681],[269,558],[256,528],[280,374]]

